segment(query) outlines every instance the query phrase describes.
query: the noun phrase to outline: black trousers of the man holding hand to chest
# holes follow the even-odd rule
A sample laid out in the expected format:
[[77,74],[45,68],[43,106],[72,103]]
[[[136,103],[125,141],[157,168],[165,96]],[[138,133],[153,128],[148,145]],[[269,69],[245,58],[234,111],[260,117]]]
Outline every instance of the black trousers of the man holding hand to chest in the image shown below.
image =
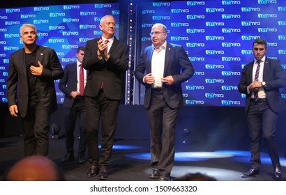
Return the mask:
[[24,155],[46,156],[49,150],[50,112],[39,101],[30,101],[27,115],[22,118],[24,127]]

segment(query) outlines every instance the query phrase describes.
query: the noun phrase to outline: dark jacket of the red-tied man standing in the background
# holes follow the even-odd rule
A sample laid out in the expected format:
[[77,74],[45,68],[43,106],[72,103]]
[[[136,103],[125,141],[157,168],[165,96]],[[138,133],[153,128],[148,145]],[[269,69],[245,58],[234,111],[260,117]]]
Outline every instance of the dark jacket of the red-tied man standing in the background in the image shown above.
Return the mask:
[[65,94],[63,107],[70,109],[75,100],[70,93],[77,91],[77,63],[67,64],[63,72],[63,78],[59,81],[59,89]]

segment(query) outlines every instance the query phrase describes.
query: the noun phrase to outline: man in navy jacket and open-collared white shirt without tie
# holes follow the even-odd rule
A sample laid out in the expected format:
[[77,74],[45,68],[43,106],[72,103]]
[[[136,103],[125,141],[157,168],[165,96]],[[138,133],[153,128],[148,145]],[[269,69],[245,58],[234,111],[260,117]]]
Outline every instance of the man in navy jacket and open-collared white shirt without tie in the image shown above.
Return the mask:
[[176,118],[183,105],[181,83],[194,75],[193,65],[181,45],[166,41],[167,28],[154,24],[153,45],[142,52],[135,77],[146,88],[146,107],[151,134],[149,178],[170,180],[174,165]]

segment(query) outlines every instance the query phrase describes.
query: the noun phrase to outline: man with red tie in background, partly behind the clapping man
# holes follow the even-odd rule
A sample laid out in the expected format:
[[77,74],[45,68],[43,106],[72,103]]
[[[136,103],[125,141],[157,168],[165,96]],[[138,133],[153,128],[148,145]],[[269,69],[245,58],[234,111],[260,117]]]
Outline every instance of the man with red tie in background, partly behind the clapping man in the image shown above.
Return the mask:
[[[86,129],[85,129],[85,107],[84,107],[84,84],[86,83],[86,70],[82,68],[84,59],[84,47],[77,48],[77,62],[67,64],[63,78],[59,81],[59,89],[65,94],[63,107],[65,109],[64,121],[66,130],[66,155],[61,162],[69,162],[75,159],[73,144],[74,131],[77,116],[80,124],[80,143],[77,150],[78,163],[84,163],[84,153],[86,150]],[[83,78],[80,76],[82,71]],[[80,87],[80,84],[83,87]]]

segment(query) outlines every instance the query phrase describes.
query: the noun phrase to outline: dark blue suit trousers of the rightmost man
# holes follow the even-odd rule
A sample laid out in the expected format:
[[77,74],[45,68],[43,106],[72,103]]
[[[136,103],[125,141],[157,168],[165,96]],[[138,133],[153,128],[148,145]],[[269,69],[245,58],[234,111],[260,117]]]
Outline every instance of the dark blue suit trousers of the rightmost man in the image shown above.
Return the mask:
[[266,99],[259,99],[257,102],[250,100],[247,119],[251,139],[251,168],[260,169],[260,143],[262,135],[266,141],[273,166],[280,164],[275,138],[278,114],[272,111]]

